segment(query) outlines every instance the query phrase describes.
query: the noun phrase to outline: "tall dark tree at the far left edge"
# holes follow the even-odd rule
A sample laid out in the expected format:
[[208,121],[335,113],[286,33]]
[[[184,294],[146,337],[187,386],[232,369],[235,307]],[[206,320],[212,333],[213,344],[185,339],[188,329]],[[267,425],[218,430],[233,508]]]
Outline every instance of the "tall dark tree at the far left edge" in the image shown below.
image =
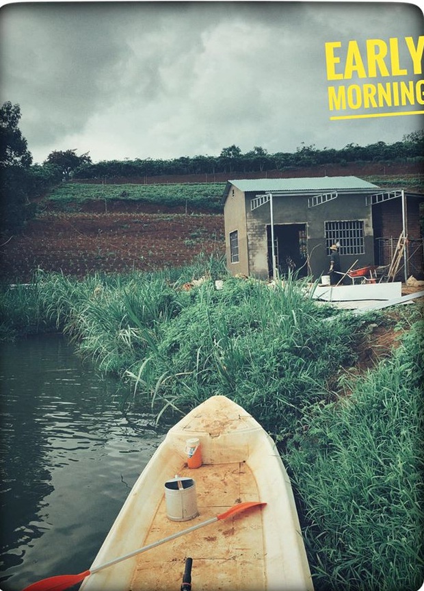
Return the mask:
[[0,200],[1,229],[19,231],[35,214],[29,203],[32,155],[18,123],[21,108],[10,101],[0,109]]

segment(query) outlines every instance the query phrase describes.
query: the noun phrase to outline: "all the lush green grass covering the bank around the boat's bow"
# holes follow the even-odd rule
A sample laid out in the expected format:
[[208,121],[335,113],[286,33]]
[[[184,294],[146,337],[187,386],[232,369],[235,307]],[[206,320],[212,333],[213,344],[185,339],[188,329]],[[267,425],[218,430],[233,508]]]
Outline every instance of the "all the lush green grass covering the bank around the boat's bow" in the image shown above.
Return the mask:
[[[419,309],[351,317],[316,305],[303,286],[228,277],[213,258],[83,281],[41,273],[31,287],[2,290],[2,334],[54,325],[128,382],[127,403],[147,402],[158,418],[174,421],[213,394],[234,399],[278,441],[315,589],[415,590],[424,577]],[[371,320],[404,336],[358,377]]]

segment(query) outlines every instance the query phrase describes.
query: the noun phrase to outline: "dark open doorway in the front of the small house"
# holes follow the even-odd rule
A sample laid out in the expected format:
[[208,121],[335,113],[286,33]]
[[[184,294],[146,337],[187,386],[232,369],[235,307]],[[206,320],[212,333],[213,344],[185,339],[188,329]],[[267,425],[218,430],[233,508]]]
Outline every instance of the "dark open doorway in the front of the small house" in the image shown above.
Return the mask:
[[[268,275],[272,276],[271,226],[267,225]],[[274,250],[280,276],[291,271],[299,277],[308,275],[306,224],[274,224]]]

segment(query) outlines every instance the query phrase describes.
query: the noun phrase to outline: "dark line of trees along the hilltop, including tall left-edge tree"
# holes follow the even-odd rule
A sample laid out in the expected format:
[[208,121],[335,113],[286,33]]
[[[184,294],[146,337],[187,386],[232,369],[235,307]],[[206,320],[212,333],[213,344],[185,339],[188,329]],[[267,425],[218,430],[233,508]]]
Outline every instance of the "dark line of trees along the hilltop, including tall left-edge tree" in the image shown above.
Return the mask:
[[424,131],[415,131],[400,142],[376,142],[365,147],[347,144],[343,149],[317,149],[303,144],[295,152],[270,154],[255,146],[242,153],[235,144],[222,149],[219,156],[181,156],[171,160],[135,158],[92,162],[88,152],[54,150],[40,164],[33,164],[27,140],[18,127],[21,108],[10,101],[0,109],[0,203],[1,231],[17,232],[34,216],[34,200],[70,179],[140,178],[161,175],[199,175],[214,173],[256,173],[284,171],[319,164],[423,160]]

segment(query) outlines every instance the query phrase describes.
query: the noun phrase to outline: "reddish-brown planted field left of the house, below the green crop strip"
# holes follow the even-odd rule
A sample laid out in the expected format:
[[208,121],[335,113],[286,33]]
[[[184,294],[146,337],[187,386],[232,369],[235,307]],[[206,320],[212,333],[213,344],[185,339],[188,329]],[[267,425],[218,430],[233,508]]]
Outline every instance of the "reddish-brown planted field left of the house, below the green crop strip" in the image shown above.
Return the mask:
[[3,280],[31,281],[37,268],[83,277],[181,266],[224,253],[219,214],[47,213],[3,244]]

